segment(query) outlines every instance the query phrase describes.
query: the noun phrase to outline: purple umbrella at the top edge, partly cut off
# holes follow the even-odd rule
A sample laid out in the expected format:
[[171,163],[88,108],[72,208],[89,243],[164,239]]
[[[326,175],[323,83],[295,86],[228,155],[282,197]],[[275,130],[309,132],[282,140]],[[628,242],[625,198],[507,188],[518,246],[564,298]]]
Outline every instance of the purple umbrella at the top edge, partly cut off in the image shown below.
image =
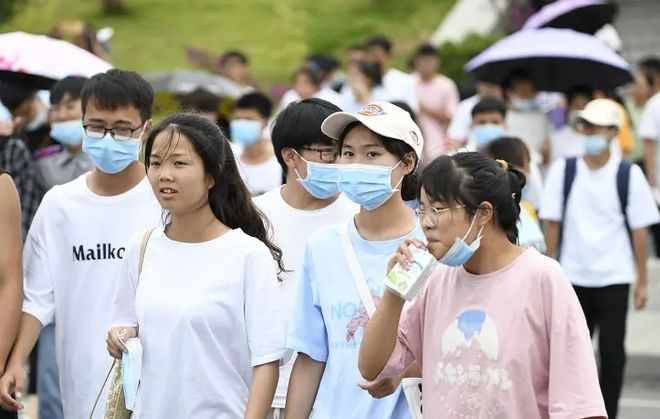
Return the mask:
[[617,11],[607,0],[558,0],[530,16],[523,29],[573,29],[593,35],[612,23]]

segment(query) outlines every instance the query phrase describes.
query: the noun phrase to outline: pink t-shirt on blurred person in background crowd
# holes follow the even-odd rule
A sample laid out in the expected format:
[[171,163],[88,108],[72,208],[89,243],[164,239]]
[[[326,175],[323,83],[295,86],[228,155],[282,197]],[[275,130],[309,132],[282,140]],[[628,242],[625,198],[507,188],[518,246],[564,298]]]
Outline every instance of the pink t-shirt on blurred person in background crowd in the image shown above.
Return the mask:
[[[449,77],[438,75],[433,80],[425,82],[416,76],[415,92],[417,101],[426,108],[449,115],[456,112],[459,101],[458,89],[456,83]],[[451,151],[446,126],[423,111],[418,113],[417,122],[424,135],[424,161],[431,161],[433,158]]]

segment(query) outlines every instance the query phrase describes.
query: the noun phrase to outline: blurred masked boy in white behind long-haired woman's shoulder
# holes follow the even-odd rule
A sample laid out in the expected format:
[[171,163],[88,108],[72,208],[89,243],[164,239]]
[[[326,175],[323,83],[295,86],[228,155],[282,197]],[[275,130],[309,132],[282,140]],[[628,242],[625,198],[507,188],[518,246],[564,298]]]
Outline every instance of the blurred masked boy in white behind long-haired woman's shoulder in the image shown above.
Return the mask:
[[252,196],[258,196],[282,185],[282,168],[275,158],[273,145],[266,137],[266,126],[273,105],[266,96],[253,92],[234,104],[229,123],[229,136],[242,147],[238,170]]

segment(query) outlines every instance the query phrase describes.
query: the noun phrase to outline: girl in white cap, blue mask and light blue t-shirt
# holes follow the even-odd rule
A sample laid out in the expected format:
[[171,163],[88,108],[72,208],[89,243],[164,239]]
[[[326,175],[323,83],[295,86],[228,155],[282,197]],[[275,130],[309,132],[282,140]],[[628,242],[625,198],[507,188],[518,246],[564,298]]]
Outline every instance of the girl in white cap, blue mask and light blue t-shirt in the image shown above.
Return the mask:
[[[340,190],[360,205],[348,223],[307,242],[287,347],[298,352],[287,418],[408,418],[400,379],[365,383],[357,369],[360,341],[383,293],[387,261],[406,238],[423,234],[404,200],[414,198],[423,147],[410,115],[387,102],[355,114],[337,112],[321,126],[339,141]],[[367,390],[367,391],[364,391]],[[373,396],[373,397],[372,397]]]

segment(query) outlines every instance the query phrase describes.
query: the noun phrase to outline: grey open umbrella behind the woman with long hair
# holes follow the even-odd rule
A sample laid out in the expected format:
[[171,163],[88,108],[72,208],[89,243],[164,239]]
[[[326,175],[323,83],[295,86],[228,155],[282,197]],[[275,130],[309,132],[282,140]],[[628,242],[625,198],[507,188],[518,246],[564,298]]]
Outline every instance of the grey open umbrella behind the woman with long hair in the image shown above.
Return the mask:
[[156,92],[185,94],[195,89],[207,90],[218,97],[236,99],[242,95],[241,87],[232,80],[204,71],[172,71],[144,75]]

